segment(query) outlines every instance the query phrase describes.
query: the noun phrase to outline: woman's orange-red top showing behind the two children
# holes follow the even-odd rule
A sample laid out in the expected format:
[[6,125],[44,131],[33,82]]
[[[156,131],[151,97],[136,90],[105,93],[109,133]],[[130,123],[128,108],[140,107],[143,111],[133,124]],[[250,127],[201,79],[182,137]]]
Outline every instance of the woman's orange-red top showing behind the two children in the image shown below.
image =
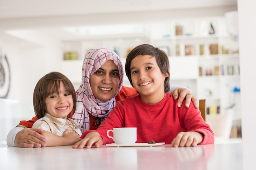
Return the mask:
[[[117,96],[115,97],[116,98],[116,101],[119,101],[119,100],[124,100],[125,98],[127,97],[130,97],[130,96],[135,96],[135,95],[138,95],[136,90],[132,87],[125,87],[123,86],[122,89],[120,90],[119,94],[117,94]],[[70,118],[72,118],[72,115],[73,115],[73,111],[70,113]],[[20,123],[17,125],[17,126],[20,126],[20,127],[23,127],[23,128],[31,128],[34,124],[34,122],[36,122],[36,120],[38,120],[38,118],[36,116],[34,116],[31,120],[21,120]],[[90,129],[97,129],[98,126],[97,126],[97,123],[96,123],[96,120],[92,117],[90,117]]]

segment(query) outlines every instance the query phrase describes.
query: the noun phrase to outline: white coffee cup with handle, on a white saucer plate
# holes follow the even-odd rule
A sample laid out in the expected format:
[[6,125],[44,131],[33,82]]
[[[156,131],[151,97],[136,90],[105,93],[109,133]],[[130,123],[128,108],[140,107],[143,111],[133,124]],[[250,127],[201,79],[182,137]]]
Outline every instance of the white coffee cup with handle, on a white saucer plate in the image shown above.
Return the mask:
[[[113,133],[113,137],[109,135],[111,131]],[[137,128],[113,128],[107,131],[107,135],[109,138],[113,139],[116,144],[135,144],[137,141]]]

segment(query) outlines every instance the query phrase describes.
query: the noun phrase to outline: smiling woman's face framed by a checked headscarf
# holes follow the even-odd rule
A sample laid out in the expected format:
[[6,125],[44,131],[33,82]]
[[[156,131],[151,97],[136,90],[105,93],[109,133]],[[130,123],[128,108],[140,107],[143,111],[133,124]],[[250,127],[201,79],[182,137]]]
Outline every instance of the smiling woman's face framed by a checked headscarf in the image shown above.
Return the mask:
[[93,95],[103,102],[115,96],[119,82],[118,68],[112,60],[108,60],[90,77]]

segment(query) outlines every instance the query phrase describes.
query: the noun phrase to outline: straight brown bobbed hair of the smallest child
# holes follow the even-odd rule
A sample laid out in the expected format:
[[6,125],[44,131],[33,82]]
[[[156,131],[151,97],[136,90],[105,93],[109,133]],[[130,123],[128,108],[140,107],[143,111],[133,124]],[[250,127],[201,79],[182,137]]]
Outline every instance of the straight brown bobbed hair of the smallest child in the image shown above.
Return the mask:
[[36,117],[38,119],[43,118],[46,111],[45,99],[55,92],[59,94],[60,83],[63,83],[63,86],[67,90],[67,93],[72,95],[74,102],[74,111],[76,110],[76,92],[71,81],[60,72],[50,72],[40,78],[37,82],[33,94],[33,105]]

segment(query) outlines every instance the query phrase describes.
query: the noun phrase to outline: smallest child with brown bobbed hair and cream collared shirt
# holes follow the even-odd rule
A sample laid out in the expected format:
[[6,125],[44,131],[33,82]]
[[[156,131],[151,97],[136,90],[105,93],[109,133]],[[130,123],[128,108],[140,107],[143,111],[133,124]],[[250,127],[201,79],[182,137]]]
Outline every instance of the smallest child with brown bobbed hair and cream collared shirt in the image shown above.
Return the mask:
[[[69,129],[74,137],[81,137],[78,123],[68,118],[76,109],[76,93],[71,81],[59,72],[50,72],[40,78],[34,89],[33,105],[38,120],[33,128],[43,129],[62,136]],[[41,135],[45,136],[45,133]],[[46,136],[47,139],[47,136]],[[59,146],[59,140],[53,143],[46,141],[46,146]]]

